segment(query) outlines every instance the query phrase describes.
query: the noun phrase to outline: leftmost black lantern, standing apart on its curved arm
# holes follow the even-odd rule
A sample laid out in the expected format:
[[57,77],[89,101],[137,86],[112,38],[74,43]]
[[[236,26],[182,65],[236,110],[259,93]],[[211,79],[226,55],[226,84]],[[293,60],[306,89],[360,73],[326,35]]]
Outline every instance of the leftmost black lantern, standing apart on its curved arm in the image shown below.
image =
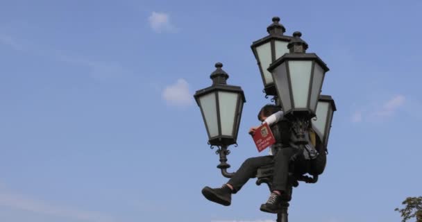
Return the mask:
[[215,67],[217,69],[210,76],[212,85],[196,91],[194,98],[201,108],[208,133],[208,144],[219,148],[216,152],[220,156],[217,168],[221,169],[223,176],[230,178],[233,173],[227,172],[230,165],[227,164],[226,155],[230,153],[228,146],[237,144],[237,133],[246,99],[241,87],[227,85],[228,74],[221,69],[223,64],[217,62]]

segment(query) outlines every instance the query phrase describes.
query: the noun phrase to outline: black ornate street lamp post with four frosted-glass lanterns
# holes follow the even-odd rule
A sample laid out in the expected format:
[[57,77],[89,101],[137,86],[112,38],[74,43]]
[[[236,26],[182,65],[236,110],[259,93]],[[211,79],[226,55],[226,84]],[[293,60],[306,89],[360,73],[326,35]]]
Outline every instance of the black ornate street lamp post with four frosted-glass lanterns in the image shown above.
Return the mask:
[[[285,119],[291,125],[287,131],[294,133],[297,138],[297,155],[303,152],[307,144],[305,135],[311,126],[326,150],[332,116],[336,110],[331,96],[320,95],[324,76],[329,69],[315,53],[306,53],[308,45],[301,39],[300,32],[295,32],[293,37],[284,35],[285,27],[279,22],[280,18],[273,17],[273,24],[267,28],[269,35],[251,45],[264,83],[264,93],[266,97],[274,96],[276,105],[281,105]],[[217,168],[221,169],[223,176],[230,178],[234,173],[227,171],[230,167],[227,163],[227,155],[230,153],[228,146],[237,145],[237,133],[246,99],[241,87],[227,85],[228,74],[221,69],[223,65],[218,62],[215,67],[217,69],[210,76],[212,85],[196,91],[194,98],[201,109],[208,144],[218,147],[216,153],[219,154],[220,164]],[[276,138],[281,137],[279,129],[274,128],[273,133]],[[266,182],[270,186],[271,176],[272,166],[258,169],[257,185]],[[287,188],[291,191],[293,186],[298,185],[298,180],[316,182],[318,176],[312,176],[314,178],[297,176]],[[278,222],[288,220],[288,201],[281,203]]]

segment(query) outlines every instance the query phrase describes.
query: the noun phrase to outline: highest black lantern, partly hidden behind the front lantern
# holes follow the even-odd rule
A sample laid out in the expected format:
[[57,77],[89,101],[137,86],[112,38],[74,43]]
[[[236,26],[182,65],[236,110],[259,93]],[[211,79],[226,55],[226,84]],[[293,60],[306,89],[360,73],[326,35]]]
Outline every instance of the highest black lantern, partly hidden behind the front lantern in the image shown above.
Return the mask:
[[279,22],[279,17],[273,17],[273,24],[267,28],[269,35],[256,40],[251,45],[253,55],[258,62],[262,82],[264,83],[264,92],[267,96],[276,96],[277,94],[273,77],[267,69],[272,62],[289,52],[287,44],[289,44],[292,38],[284,35],[286,29]]

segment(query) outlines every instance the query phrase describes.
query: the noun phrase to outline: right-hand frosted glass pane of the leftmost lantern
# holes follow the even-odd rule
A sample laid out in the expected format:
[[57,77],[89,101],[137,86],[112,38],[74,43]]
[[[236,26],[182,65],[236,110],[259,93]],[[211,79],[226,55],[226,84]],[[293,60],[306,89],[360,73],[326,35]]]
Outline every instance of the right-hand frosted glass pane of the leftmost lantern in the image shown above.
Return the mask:
[[237,93],[219,92],[221,135],[233,137],[236,117]]

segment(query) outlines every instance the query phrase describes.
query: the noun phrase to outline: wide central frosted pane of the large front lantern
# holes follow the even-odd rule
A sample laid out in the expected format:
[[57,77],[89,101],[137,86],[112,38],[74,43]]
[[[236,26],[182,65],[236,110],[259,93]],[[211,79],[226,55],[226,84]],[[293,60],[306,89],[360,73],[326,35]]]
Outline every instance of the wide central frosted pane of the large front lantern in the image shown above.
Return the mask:
[[307,108],[312,61],[289,61],[294,108]]

